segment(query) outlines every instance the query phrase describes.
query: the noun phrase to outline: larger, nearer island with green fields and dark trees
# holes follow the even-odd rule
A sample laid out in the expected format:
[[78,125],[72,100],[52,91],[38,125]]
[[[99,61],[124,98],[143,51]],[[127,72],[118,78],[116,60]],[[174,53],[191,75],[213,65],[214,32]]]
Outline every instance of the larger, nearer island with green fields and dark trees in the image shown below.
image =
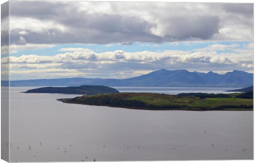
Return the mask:
[[157,93],[118,93],[79,96],[57,99],[64,103],[140,110],[253,110],[253,99],[242,99],[232,94],[157,94]]

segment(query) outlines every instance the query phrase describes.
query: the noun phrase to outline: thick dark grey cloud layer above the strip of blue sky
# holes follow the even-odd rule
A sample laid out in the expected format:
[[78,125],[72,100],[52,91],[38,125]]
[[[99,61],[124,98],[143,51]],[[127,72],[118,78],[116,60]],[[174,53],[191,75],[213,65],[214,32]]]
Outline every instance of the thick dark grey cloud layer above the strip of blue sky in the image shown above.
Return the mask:
[[[229,33],[220,33],[220,29],[225,28],[225,22],[237,24],[236,31],[249,29],[249,32],[253,32],[252,4],[165,3],[164,7],[159,4],[161,3],[11,1],[10,15],[14,19],[33,18],[45,24],[51,22],[49,26],[38,25],[38,28],[43,28],[39,32],[29,28],[26,30],[27,34],[22,37],[31,44],[127,45],[126,43],[135,41],[159,43],[230,39]],[[241,23],[246,29],[239,26]],[[58,25],[66,30],[60,30]],[[12,29],[11,44],[19,44],[22,30],[22,24]],[[244,36],[241,38],[247,39]]]

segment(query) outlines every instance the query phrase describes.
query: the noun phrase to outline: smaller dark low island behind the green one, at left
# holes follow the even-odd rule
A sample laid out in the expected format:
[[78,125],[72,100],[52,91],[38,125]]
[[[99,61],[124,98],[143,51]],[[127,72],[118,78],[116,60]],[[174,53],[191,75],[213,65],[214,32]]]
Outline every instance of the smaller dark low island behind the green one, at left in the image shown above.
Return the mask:
[[116,94],[118,90],[103,85],[81,85],[78,87],[42,87],[27,90],[23,93],[58,93],[58,94]]

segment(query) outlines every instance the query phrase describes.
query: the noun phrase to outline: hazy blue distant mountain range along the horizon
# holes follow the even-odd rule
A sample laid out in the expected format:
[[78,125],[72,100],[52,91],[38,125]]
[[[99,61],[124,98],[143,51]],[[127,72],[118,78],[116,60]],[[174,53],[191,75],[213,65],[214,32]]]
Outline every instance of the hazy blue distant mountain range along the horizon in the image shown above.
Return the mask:
[[[2,86],[7,81],[1,81]],[[249,87],[253,85],[253,73],[234,70],[225,74],[190,72],[187,70],[161,69],[127,79],[59,78],[36,80],[12,80],[11,86],[79,86],[105,85],[110,87]]]

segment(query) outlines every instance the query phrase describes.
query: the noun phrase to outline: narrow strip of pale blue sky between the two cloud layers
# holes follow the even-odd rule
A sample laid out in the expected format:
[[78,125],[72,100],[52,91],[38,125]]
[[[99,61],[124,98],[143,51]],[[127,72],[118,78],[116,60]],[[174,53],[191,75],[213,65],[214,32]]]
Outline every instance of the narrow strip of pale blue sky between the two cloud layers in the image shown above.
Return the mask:
[[[52,48],[44,49],[30,49],[18,51],[18,53],[12,53],[10,56],[21,56],[21,55],[56,55],[59,53],[65,53],[65,51],[59,51],[60,48],[88,48],[95,53],[103,53],[106,51],[117,51],[122,50],[125,52],[139,52],[139,51],[152,51],[152,52],[161,52],[161,51],[196,51],[199,48],[206,48],[207,46],[213,44],[222,44],[222,45],[231,45],[238,44],[239,46],[235,48],[244,49],[243,45],[248,45],[249,42],[246,41],[214,41],[214,42],[177,42],[177,43],[140,43],[135,42],[131,45],[124,46],[122,44],[57,44]],[[224,51],[217,51],[218,53],[234,53],[230,49],[225,49]],[[3,55],[2,55],[3,56]],[[2,57],[1,56],[1,57]]]

